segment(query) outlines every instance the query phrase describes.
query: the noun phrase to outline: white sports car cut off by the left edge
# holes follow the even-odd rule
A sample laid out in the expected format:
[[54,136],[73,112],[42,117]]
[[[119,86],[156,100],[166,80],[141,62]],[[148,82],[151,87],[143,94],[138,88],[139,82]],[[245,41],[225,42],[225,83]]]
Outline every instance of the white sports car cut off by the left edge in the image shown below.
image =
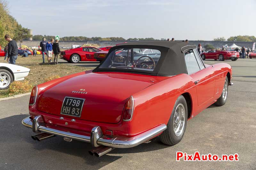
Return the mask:
[[0,63],[0,90],[8,89],[13,81],[24,80],[30,69],[19,65]]

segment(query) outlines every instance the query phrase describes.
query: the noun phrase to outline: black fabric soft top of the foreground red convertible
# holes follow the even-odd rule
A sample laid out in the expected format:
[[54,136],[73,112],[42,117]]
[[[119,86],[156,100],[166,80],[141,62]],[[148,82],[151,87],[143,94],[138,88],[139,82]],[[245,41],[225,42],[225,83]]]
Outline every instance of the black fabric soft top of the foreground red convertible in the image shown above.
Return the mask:
[[[155,76],[173,76],[181,73],[187,74],[184,51],[188,49],[195,49],[196,45],[191,45],[181,41],[138,41],[127,42],[112,47],[108,55],[119,48],[149,48],[157,49],[161,52],[161,57],[156,65],[154,71],[145,71],[137,69],[108,69],[99,68],[101,64],[96,67],[93,72],[115,71],[115,72],[132,72],[140,74],[149,74]],[[106,56],[106,58],[108,57]]]

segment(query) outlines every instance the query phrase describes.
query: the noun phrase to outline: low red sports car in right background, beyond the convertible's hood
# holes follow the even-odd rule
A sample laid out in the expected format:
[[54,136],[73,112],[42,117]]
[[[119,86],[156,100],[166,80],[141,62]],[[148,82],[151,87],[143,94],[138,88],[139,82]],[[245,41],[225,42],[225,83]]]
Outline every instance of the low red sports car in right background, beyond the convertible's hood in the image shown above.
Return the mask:
[[212,49],[208,52],[202,53],[201,57],[203,60],[205,59],[214,59],[214,60],[232,60],[236,61],[239,58],[239,53],[236,51],[219,51],[216,49]]

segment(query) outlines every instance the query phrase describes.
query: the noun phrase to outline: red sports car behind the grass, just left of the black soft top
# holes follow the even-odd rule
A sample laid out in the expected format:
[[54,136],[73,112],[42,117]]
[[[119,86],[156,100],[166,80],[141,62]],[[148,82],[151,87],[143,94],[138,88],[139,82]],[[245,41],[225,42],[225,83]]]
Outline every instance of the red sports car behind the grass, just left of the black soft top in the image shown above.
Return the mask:
[[94,53],[101,51],[95,47],[78,47],[60,51],[61,58],[71,62],[79,63],[80,61],[97,61],[94,59]]

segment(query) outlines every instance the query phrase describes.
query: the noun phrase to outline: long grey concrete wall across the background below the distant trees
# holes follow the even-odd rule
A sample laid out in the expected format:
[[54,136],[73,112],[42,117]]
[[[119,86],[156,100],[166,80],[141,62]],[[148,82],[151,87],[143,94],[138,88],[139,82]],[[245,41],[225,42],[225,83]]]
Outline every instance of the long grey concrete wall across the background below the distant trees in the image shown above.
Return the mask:
[[[83,45],[92,43],[92,44],[98,44],[99,46],[115,46],[116,44],[120,44],[124,41],[60,41],[60,47],[71,47],[72,45]],[[132,41],[128,41],[132,42]],[[191,44],[198,45],[201,43],[202,47],[204,48],[204,45],[206,44],[211,44],[215,48],[222,48],[223,45],[228,44],[228,46],[232,45],[235,43],[236,45],[243,47],[245,46],[246,48],[252,48],[253,42],[235,42],[235,41],[189,41]],[[17,42],[18,46],[20,46],[20,42]],[[34,47],[40,45],[40,41],[22,41],[21,45],[26,45],[28,47]]]

